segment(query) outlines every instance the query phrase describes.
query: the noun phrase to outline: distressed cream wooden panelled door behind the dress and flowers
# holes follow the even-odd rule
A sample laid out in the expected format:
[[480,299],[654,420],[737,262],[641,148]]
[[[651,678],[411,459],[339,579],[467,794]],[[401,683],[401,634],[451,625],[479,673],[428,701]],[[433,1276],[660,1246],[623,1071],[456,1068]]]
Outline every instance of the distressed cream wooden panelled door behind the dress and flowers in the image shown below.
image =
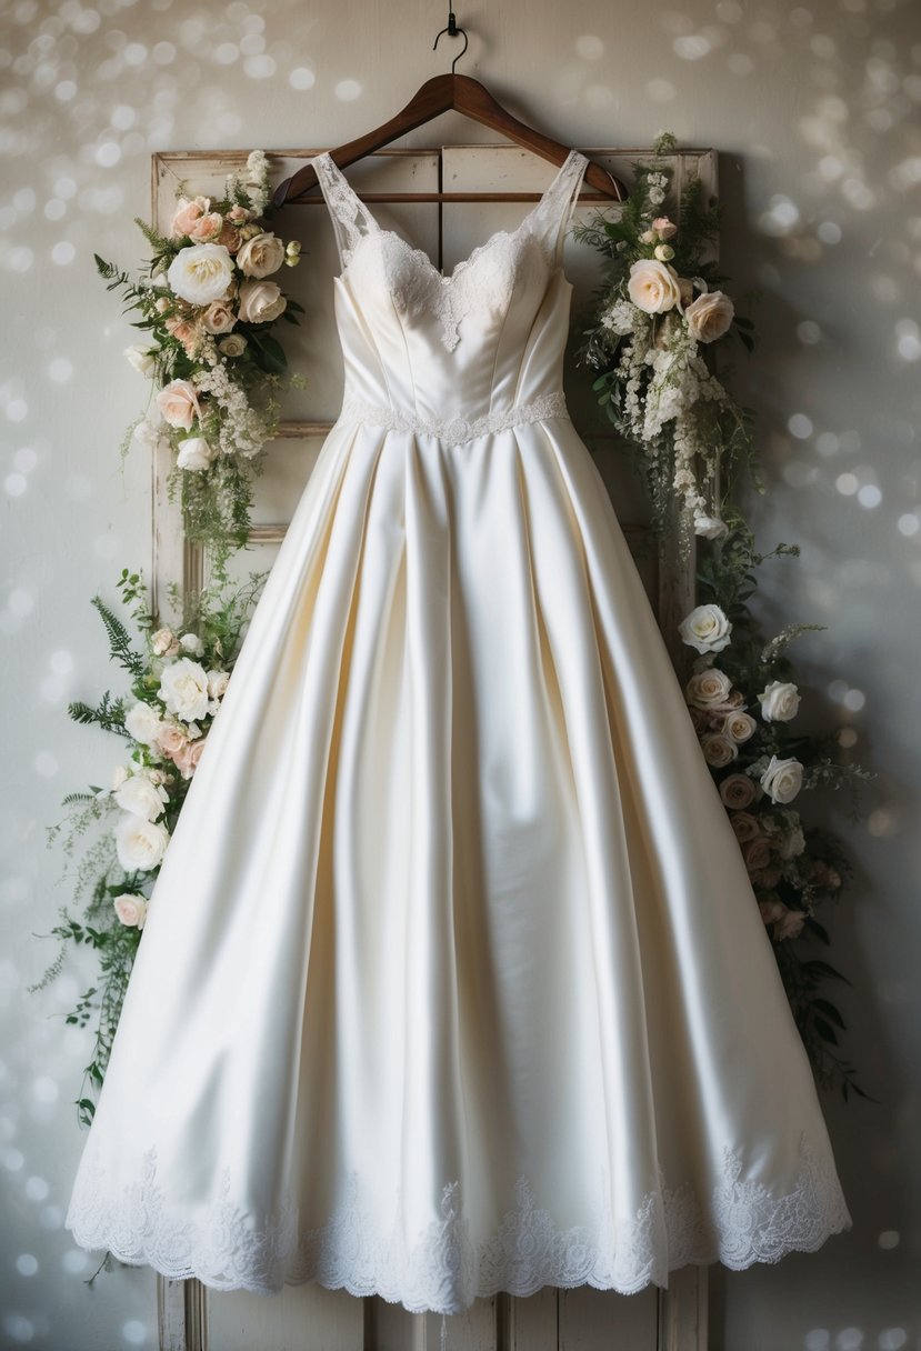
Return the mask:
[[[269,155],[271,184],[292,173],[313,150],[282,150]],[[632,162],[644,149],[591,149],[629,185]],[[153,157],[153,222],[166,230],[176,205],[176,188],[220,197],[224,176],[240,172],[248,151],[159,153]],[[691,177],[717,190],[716,153],[686,150],[671,158],[678,189]],[[350,181],[369,199],[385,227],[424,249],[450,270],[494,230],[513,228],[528,203],[502,201],[504,195],[539,195],[554,166],[517,146],[446,146],[432,150],[388,150],[348,169]],[[439,192],[494,193],[490,203],[439,203]],[[290,205],[275,216],[285,238],[298,238],[302,261],[285,269],[281,285],[305,308],[301,326],[284,326],[293,370],[307,376],[307,388],[282,400],[282,426],[269,447],[266,469],[257,485],[248,547],[234,570],[244,577],[271,566],[286,521],[311,474],[316,455],[342,401],[343,374],[332,316],[332,276],[338,270],[332,228],[319,199]],[[579,205],[577,216],[597,209]],[[600,259],[585,246],[567,242],[566,267],[574,284],[573,340],[566,369],[567,403],[585,443],[593,453],[637,566],[656,607],[673,659],[681,661],[675,636],[678,619],[693,604],[693,561],[683,567],[659,551],[644,524],[644,504],[590,389],[590,376],[578,370],[579,311],[600,280]],[[161,613],[169,615],[167,585],[197,588],[208,578],[208,559],[184,538],[178,507],[167,500],[169,454],[153,463],[151,577]],[[288,1288],[277,1296],[215,1293],[197,1281],[161,1279],[159,1335],[165,1351],[436,1351],[442,1319],[411,1315],[384,1300],[358,1300],[317,1286]],[[673,1273],[668,1290],[648,1288],[617,1296],[590,1288],[546,1289],[527,1300],[500,1294],[478,1301],[466,1315],[446,1320],[448,1351],[704,1351],[706,1346],[706,1269]]]

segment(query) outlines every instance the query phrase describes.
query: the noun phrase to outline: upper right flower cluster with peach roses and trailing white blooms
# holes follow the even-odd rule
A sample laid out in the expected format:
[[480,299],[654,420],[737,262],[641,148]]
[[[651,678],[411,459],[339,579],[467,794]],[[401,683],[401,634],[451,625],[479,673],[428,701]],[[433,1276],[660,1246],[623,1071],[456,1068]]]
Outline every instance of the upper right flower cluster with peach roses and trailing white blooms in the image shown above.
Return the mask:
[[674,145],[666,132],[656,159],[633,166],[636,182],[616,220],[596,213],[574,235],[608,259],[579,355],[600,372],[593,388],[635,453],[656,528],[677,531],[687,557],[691,534],[718,539],[740,519],[732,488],[740,469],[754,470],[752,415],[704,353],[733,332],[751,350],[754,335],[706,259],[720,208],[704,203],[701,180],[685,189],[681,228],[664,213],[668,172],[659,157]]

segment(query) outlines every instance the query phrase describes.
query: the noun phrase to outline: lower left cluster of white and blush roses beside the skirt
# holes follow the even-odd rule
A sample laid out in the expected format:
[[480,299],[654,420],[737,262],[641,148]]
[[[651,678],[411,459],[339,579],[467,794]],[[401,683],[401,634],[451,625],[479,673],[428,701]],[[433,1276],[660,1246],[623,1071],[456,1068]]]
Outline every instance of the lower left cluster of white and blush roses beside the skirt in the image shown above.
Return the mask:
[[[70,793],[65,819],[47,831],[49,846],[63,835],[69,858],[77,846],[84,850],[73,878],[74,901],[84,904],[84,913],[78,919],[61,911],[53,929],[58,957],[34,986],[41,989],[59,974],[69,944],[95,948],[100,979],[66,1017],[78,1027],[96,1020],[85,1069],[90,1090],[103,1082],[150,894],[263,580],[265,573],[251,573],[235,590],[205,589],[185,597],[181,609],[174,588],[170,597],[182,621],[170,628],[147,611],[140,573],[126,569],[117,585],[138,639],[99,596],[92,600],[108,635],[109,658],[127,671],[130,689],[116,698],[107,690],[96,707],[73,703],[68,713],[123,744],[108,786]],[[81,1123],[89,1124],[95,1104],[85,1088],[77,1109]]]

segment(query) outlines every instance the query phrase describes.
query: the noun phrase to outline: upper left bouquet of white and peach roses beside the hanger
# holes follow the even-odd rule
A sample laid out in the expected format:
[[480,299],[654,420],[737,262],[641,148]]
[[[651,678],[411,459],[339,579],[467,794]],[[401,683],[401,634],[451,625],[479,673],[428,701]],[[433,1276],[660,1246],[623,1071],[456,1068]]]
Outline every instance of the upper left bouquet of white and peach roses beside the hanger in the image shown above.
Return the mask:
[[[288,362],[271,327],[280,319],[296,324],[304,312],[271,280],[282,265],[297,266],[300,245],[266,228],[266,155],[254,150],[246,163],[244,177],[227,174],[219,201],[185,196],[181,184],[166,236],[135,216],[153,249],[149,280],[135,284],[93,255],[107,289],[123,288],[127,311],[140,312],[134,327],[150,340],[124,355],[158,390],[128,428],[122,454],[132,438],[147,449],[170,444],[170,501],[178,490],[186,535],[208,549],[219,577],[247,542],[253,482],[278,428]],[[304,381],[293,374],[288,384]]]

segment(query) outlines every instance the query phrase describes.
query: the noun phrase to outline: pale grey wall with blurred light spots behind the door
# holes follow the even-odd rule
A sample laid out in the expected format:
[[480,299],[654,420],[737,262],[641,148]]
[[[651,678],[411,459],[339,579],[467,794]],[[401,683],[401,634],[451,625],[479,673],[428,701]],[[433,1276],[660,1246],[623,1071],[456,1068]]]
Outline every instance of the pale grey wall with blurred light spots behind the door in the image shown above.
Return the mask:
[[[134,270],[132,223],[163,149],[343,142],[447,69],[444,7],[420,0],[14,0],[0,20],[0,635],[7,732],[0,815],[0,1344],[115,1351],[155,1344],[149,1271],[104,1274],[62,1229],[82,1135],[72,1098],[86,1039],[62,1013],[69,973],[26,986],[66,889],[45,827],[107,775],[108,739],[66,717],[112,678],[89,608],[147,563],[147,465],[117,447],[146,385],[134,332],[92,254]],[[470,0],[460,66],[571,145],[721,151],[731,290],[763,290],[756,361],[735,393],[758,412],[770,624],[816,620],[798,644],[804,720],[852,724],[878,778],[847,834],[858,874],[832,916],[848,1052],[879,1102],[825,1100],[855,1231],[814,1255],[713,1269],[713,1346],[728,1351],[921,1347],[918,909],[921,719],[921,15],[912,0]],[[454,53],[451,53],[452,55]],[[447,59],[446,59],[447,57]],[[492,139],[448,116],[413,145]],[[741,349],[740,349],[741,351]],[[913,716],[912,709],[916,709]],[[96,778],[96,781],[104,781]],[[701,935],[706,940],[706,935]],[[764,1028],[770,1036],[771,1029]]]

